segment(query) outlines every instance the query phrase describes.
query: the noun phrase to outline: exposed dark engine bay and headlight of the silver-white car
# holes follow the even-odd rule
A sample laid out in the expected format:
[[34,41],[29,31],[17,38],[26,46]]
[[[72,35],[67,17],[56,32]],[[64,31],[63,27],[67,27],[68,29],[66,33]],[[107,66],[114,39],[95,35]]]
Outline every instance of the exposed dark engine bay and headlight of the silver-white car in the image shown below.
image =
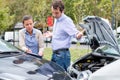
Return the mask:
[[114,57],[88,54],[73,63],[69,73],[75,80],[84,80],[96,70],[115,60],[116,58]]

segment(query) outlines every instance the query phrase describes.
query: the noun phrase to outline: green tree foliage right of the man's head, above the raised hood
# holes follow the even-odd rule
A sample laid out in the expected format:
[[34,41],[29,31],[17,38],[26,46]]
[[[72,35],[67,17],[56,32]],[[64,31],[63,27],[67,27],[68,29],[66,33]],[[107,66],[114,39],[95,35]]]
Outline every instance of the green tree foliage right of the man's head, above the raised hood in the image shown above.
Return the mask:
[[[120,0],[64,0],[65,13],[70,16],[76,24],[82,21],[86,16],[99,16],[112,20],[120,20]],[[112,5],[114,12],[112,14]]]

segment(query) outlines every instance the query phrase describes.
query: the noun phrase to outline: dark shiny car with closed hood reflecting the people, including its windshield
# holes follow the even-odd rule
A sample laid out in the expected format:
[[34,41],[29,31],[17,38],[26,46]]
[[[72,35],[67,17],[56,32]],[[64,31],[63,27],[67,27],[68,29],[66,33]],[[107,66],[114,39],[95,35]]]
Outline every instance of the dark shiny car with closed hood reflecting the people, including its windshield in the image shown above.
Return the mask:
[[1,39],[0,45],[0,80],[71,80],[54,62],[25,53]]

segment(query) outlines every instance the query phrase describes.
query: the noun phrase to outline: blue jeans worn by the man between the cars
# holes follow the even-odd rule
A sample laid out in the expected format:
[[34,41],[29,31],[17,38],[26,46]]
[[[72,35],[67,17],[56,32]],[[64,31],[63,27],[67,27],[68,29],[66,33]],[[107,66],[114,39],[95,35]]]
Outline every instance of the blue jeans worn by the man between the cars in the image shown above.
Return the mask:
[[60,50],[58,52],[53,52],[52,61],[67,71],[67,68],[70,66],[70,51]]

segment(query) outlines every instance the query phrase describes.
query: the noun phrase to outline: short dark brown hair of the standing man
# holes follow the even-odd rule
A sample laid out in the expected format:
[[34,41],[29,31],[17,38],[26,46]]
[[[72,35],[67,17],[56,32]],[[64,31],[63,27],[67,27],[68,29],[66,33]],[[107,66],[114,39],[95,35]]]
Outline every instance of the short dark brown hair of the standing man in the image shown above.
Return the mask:
[[59,8],[61,12],[64,10],[64,3],[62,2],[62,0],[54,0],[51,6],[53,7],[53,9]]

